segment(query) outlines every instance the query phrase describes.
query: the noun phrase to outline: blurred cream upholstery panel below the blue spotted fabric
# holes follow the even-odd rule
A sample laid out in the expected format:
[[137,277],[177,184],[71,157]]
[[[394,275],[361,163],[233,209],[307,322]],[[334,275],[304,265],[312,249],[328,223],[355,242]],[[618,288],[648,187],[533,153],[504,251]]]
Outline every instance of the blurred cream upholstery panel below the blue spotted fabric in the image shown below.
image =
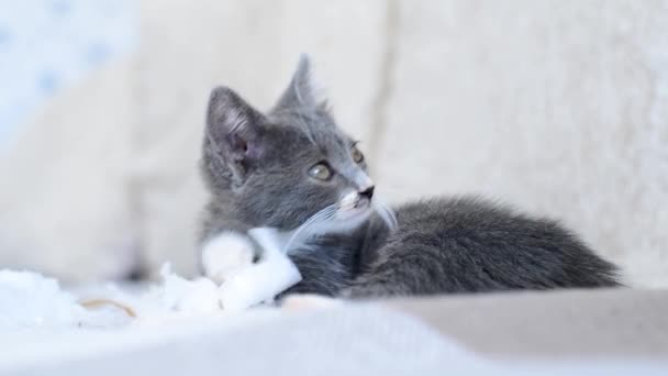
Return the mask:
[[133,268],[130,66],[65,90],[0,155],[0,267],[69,281]]

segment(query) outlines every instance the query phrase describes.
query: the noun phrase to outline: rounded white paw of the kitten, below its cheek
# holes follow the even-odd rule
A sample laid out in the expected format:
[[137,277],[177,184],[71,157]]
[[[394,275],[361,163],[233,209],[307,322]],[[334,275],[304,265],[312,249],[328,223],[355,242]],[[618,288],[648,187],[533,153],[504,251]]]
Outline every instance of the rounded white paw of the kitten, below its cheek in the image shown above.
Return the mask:
[[202,266],[204,275],[222,284],[238,272],[253,265],[255,246],[248,236],[224,232],[204,244]]

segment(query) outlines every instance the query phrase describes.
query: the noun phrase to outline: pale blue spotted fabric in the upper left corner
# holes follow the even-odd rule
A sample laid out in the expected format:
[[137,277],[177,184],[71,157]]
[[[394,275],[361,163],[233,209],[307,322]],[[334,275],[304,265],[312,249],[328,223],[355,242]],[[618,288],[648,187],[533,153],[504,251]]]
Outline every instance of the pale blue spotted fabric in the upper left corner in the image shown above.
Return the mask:
[[134,3],[0,1],[0,154],[54,93],[131,49]]

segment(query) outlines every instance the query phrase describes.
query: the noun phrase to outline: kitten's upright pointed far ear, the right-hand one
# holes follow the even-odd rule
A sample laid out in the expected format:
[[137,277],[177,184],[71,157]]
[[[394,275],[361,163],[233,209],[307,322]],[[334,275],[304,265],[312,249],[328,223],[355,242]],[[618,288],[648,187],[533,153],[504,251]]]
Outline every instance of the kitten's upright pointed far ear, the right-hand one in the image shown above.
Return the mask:
[[290,85],[279,98],[272,111],[316,110],[325,106],[325,101],[320,98],[320,88],[313,82],[309,56],[301,55]]

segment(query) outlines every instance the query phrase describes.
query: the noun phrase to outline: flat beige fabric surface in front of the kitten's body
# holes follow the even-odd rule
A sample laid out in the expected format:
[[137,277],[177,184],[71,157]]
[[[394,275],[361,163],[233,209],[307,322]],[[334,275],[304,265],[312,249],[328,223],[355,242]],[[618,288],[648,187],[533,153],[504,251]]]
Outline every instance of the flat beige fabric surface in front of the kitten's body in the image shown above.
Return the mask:
[[497,357],[668,360],[668,291],[516,292],[387,305]]

